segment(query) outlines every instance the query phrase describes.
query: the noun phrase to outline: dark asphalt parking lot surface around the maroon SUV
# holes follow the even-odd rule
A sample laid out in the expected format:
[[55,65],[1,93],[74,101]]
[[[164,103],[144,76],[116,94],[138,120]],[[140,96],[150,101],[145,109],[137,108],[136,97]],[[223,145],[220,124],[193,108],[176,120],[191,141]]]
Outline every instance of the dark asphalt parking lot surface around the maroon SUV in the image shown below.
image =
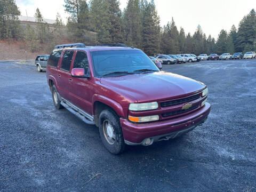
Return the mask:
[[256,59],[164,65],[204,82],[211,113],[181,138],[110,154],[55,109],[46,74],[0,62],[0,191],[256,191]]

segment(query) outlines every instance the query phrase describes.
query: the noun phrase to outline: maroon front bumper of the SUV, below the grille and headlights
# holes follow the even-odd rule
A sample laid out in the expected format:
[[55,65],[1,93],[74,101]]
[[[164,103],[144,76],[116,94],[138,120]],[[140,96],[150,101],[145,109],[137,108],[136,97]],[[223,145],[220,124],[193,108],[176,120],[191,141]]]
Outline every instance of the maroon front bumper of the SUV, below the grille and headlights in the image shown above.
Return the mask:
[[150,138],[151,143],[174,138],[183,132],[193,130],[202,124],[210,113],[210,103],[205,103],[201,109],[178,118],[150,123],[132,123],[128,119],[120,118],[123,136],[127,145],[145,145]]

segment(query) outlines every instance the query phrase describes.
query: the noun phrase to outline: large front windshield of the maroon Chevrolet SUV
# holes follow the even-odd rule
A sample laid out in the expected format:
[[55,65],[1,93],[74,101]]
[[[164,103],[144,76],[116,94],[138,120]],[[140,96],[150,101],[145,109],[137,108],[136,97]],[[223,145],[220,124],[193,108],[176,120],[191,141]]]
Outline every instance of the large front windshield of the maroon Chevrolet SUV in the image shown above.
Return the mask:
[[142,69],[159,71],[153,61],[140,50],[92,51],[91,57],[95,77],[108,74],[109,76],[129,75],[138,73],[138,70]]

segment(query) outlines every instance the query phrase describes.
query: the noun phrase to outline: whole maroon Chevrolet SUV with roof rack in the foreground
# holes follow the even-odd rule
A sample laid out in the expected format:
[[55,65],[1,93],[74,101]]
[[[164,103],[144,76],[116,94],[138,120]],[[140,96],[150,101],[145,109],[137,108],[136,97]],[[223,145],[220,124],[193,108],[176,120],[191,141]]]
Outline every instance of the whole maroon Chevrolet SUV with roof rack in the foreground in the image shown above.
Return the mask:
[[46,73],[55,107],[98,126],[103,145],[119,154],[125,144],[178,137],[210,113],[205,84],[158,67],[123,44],[78,43],[55,46]]

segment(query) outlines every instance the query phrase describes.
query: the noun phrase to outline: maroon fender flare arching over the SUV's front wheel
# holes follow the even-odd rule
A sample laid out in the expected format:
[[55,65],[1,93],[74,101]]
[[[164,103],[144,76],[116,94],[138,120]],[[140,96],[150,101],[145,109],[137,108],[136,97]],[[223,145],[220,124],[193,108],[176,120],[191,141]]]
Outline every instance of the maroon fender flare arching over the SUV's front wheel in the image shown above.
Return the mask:
[[107,106],[111,107],[112,109],[114,109],[119,117],[126,118],[125,114],[127,114],[127,113],[125,113],[123,107],[118,102],[116,102],[116,101],[114,101],[114,100],[112,100],[110,98],[107,98],[107,97],[105,97],[103,95],[94,94],[93,97],[92,97],[93,106],[94,106],[94,103],[97,102],[97,101],[102,102],[105,105],[107,105]]

